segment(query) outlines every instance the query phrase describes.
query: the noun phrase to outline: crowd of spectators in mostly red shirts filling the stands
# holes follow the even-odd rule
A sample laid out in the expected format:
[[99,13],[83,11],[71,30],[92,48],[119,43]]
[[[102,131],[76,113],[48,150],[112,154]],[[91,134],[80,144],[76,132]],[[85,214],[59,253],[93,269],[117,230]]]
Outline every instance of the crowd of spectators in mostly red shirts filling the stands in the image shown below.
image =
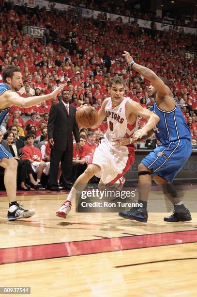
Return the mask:
[[[46,45],[44,39],[23,33],[24,24],[46,28]],[[60,40],[54,42],[50,37],[49,28],[65,40],[63,46]],[[136,63],[169,80],[190,127],[192,144],[197,145],[197,70],[195,60],[184,57],[184,49],[195,50],[194,36],[173,29],[169,32],[142,30],[136,22],[122,24],[120,19],[114,22],[108,19],[104,23],[100,16],[98,19],[76,17],[54,8],[49,12],[45,8],[31,10],[26,5],[19,8],[6,3],[0,12],[0,82],[4,67],[20,66],[23,86],[18,94],[24,98],[48,94],[59,84],[67,83],[65,89],[72,94],[70,104],[76,108],[88,104],[99,111],[109,96],[109,79],[122,75],[126,82],[125,97],[149,108],[154,103],[148,93],[150,82],[128,68],[122,58],[123,50],[128,49]],[[27,168],[31,184],[38,184],[43,172],[45,176],[49,173],[47,121],[51,105],[60,100],[61,96],[26,109],[13,106],[6,123],[7,132],[4,126],[0,127],[0,139],[8,141],[13,156],[37,163],[31,166],[32,170]],[[138,124],[143,127],[146,119],[138,118]],[[106,129],[106,120],[94,131],[80,128],[80,150],[76,150],[74,144],[74,180],[86,168]],[[20,186],[26,188],[24,181],[21,180]]]

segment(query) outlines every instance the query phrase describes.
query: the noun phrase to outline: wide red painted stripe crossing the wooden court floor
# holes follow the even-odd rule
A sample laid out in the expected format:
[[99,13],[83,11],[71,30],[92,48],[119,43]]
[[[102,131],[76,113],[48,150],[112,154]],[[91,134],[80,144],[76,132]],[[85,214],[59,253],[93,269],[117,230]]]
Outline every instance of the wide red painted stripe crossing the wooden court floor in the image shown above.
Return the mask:
[[197,231],[102,238],[66,243],[0,249],[0,264],[87,255],[144,247],[160,247],[197,242]]

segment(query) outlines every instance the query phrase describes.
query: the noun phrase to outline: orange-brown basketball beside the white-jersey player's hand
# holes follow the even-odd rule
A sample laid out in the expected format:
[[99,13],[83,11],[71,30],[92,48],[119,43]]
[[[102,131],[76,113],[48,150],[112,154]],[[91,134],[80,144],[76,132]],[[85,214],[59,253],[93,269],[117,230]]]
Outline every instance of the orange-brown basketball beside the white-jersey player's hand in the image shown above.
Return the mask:
[[98,114],[91,106],[82,106],[76,112],[76,121],[80,127],[91,128],[96,124]]

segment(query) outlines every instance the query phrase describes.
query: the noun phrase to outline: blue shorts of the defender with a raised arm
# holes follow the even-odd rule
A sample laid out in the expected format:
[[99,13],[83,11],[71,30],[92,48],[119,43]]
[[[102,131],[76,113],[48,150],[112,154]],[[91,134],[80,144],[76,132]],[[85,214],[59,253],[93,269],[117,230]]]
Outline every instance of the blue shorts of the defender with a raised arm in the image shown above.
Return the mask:
[[180,139],[155,148],[141,163],[152,174],[172,182],[178,172],[185,165],[192,153],[192,146],[188,139]]

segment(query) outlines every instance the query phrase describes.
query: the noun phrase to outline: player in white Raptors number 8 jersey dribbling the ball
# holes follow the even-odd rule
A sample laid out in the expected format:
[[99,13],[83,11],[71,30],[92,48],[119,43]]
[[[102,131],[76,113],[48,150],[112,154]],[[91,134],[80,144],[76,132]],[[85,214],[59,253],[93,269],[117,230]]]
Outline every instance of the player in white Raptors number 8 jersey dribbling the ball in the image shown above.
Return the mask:
[[[109,82],[110,98],[105,99],[98,112],[98,121],[92,128],[98,127],[107,118],[107,131],[104,139],[91,155],[85,172],[78,177],[67,200],[56,212],[57,216],[66,218],[71,209],[71,203],[95,175],[100,177],[100,183],[124,182],[123,175],[134,162],[136,150],[135,141],[152,130],[159,122],[159,117],[130,98],[123,97],[125,82],[122,77],[115,77]],[[137,115],[148,118],[147,124],[137,130]],[[137,130],[137,131],[136,131]],[[135,132],[135,134],[134,134]],[[128,146],[116,148],[116,138],[131,138]]]

